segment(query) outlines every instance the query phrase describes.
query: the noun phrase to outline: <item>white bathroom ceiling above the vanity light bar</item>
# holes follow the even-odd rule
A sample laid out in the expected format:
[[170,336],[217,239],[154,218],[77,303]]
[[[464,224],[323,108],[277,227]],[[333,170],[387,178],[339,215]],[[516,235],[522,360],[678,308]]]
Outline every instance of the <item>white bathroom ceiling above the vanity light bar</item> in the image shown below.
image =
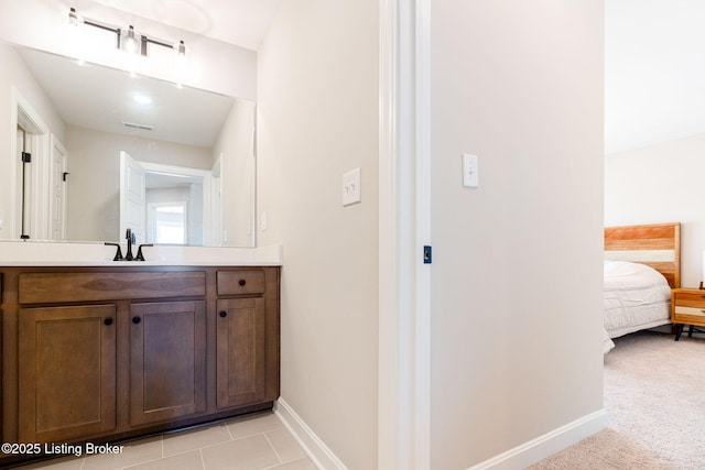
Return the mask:
[[281,0],[93,0],[257,51]]

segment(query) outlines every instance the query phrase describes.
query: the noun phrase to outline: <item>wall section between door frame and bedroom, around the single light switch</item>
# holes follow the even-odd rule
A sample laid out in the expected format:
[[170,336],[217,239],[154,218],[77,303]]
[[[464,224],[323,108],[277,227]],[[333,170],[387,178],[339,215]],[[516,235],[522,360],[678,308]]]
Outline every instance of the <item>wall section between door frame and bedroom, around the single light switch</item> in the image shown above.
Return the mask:
[[603,407],[603,22],[593,0],[431,2],[434,470]]

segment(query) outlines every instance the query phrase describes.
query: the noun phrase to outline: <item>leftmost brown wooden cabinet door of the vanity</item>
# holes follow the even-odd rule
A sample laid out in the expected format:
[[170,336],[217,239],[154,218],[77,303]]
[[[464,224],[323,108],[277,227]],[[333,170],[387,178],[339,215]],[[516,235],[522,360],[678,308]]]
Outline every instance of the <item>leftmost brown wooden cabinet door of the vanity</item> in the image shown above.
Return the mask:
[[21,442],[115,429],[115,305],[20,310]]

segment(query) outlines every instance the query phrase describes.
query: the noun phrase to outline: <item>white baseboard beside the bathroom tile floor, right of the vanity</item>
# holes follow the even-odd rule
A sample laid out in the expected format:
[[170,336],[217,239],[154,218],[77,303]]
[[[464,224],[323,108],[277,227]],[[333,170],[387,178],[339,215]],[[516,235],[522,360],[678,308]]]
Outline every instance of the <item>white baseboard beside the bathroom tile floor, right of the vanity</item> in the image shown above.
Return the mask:
[[294,438],[319,470],[347,470],[340,459],[333,453],[301,416],[281,397],[274,403],[274,414],[284,423],[289,431],[294,435]]

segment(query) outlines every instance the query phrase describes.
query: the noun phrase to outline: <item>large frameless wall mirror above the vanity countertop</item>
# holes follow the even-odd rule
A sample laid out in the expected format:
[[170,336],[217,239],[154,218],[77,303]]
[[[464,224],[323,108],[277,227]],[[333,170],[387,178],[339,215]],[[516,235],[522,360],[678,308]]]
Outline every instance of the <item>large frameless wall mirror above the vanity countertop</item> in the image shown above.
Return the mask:
[[32,81],[10,80],[0,239],[254,245],[254,102],[0,47]]

